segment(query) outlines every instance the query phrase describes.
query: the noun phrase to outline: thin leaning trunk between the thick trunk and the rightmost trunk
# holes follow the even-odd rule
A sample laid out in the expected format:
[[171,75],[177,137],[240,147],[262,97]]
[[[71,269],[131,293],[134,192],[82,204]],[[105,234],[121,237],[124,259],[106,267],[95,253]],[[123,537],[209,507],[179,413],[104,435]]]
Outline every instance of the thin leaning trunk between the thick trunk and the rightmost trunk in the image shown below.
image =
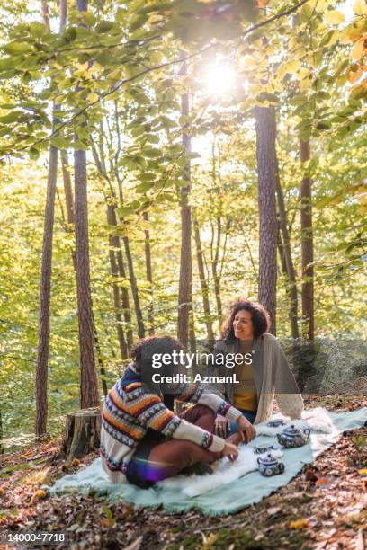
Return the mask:
[[284,253],[284,260],[286,266],[286,272],[290,284],[290,321],[291,321],[291,335],[292,338],[300,338],[298,327],[298,294],[296,283],[296,271],[293,265],[293,259],[291,257],[291,238],[287,225],[287,213],[284,205],[284,194],[282,192],[282,185],[279,176],[279,169],[277,171],[276,178],[276,196],[279,210],[279,225],[282,232],[282,250]]

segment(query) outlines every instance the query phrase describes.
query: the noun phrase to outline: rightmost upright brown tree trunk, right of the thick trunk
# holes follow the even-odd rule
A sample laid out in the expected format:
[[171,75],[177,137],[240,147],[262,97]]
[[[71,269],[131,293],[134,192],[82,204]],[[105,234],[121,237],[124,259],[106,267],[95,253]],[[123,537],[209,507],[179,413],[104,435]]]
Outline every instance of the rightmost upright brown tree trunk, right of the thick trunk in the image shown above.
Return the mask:
[[[309,141],[300,141],[300,163],[309,161]],[[302,247],[302,334],[309,341],[315,338],[314,268],[312,229],[312,182],[303,178],[300,185],[300,231]]]

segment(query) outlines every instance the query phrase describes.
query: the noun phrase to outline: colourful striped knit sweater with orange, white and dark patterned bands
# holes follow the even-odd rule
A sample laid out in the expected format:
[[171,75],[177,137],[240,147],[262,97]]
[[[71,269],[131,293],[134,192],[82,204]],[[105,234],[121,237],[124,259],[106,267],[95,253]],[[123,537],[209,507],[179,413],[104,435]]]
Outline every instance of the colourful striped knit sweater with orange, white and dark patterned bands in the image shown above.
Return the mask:
[[[131,368],[130,365],[130,372]],[[205,393],[203,387],[194,384],[178,385],[175,399],[207,405],[233,421],[241,415],[219,395]],[[148,428],[171,438],[192,441],[213,452],[224,448],[224,439],[176,416],[166,408],[161,396],[143,382],[126,385],[121,378],[106,397],[102,412],[102,465],[112,483],[127,483],[126,468]]]

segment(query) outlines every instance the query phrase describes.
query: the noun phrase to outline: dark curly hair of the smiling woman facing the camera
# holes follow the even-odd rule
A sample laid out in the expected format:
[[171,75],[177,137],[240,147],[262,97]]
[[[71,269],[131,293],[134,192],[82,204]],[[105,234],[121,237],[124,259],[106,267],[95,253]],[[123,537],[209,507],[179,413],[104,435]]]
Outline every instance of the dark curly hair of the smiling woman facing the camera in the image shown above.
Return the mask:
[[220,329],[220,336],[223,340],[237,340],[233,329],[233,322],[238,311],[248,311],[254,326],[254,337],[259,338],[270,329],[270,315],[264,306],[257,302],[251,302],[246,297],[240,297],[231,304],[227,318]]

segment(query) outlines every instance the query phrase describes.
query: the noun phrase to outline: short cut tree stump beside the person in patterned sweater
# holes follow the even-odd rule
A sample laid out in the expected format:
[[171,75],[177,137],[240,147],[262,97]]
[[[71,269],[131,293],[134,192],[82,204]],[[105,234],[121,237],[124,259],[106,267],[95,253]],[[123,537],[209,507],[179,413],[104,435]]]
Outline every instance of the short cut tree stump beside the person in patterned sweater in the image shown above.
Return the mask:
[[70,464],[100,447],[101,410],[98,407],[67,414],[61,456]]

